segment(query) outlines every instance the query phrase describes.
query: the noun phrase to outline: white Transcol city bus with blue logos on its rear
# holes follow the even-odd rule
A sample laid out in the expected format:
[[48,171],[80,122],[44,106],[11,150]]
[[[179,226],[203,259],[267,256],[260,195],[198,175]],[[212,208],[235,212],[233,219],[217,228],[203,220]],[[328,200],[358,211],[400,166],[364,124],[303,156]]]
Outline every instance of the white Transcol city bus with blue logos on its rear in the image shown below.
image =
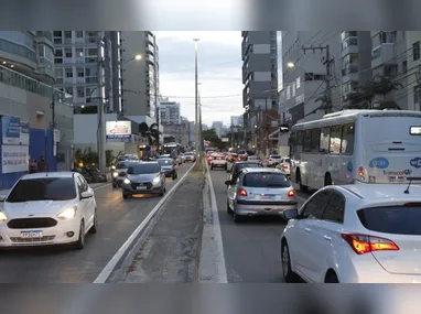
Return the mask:
[[298,123],[289,139],[300,190],[335,184],[408,183],[421,177],[421,112],[344,110]]

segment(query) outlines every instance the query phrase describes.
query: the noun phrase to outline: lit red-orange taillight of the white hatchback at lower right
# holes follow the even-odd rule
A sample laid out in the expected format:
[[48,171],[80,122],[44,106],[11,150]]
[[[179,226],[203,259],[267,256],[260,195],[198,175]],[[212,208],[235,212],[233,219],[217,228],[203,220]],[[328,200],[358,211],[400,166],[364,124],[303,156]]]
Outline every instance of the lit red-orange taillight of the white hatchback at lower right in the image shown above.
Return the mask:
[[365,255],[373,251],[397,251],[399,247],[389,239],[371,237],[360,234],[342,234],[357,255]]

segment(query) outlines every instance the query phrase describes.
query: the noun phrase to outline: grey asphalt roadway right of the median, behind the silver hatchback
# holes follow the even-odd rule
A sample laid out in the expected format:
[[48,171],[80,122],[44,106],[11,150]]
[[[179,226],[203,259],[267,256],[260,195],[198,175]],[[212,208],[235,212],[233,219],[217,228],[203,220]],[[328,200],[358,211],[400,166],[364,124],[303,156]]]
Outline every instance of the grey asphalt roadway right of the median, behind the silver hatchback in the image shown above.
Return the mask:
[[[228,282],[282,282],[279,239],[285,221],[278,217],[256,217],[235,224],[233,216],[227,213],[226,171],[210,171],[210,177],[218,207]],[[299,192],[299,205],[309,195]]]

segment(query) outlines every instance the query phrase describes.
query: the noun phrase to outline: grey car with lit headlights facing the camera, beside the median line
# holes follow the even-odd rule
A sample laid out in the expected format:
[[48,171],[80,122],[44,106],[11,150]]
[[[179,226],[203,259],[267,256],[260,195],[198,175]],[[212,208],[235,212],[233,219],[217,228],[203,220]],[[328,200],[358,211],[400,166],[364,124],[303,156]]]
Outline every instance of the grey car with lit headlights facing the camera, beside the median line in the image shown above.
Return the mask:
[[163,196],[166,191],[165,172],[161,171],[158,162],[132,164],[127,170],[121,188],[123,198],[129,198],[136,194]]

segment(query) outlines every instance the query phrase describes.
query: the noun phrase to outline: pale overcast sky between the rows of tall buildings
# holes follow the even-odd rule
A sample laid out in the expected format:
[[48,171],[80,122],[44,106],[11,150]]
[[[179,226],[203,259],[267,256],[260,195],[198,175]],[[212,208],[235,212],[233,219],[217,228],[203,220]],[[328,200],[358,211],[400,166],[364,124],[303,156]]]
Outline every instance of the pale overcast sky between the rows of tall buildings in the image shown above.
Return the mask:
[[202,120],[230,123],[242,110],[241,32],[154,32],[159,45],[161,95],[181,104],[194,120],[194,37],[198,37]]

